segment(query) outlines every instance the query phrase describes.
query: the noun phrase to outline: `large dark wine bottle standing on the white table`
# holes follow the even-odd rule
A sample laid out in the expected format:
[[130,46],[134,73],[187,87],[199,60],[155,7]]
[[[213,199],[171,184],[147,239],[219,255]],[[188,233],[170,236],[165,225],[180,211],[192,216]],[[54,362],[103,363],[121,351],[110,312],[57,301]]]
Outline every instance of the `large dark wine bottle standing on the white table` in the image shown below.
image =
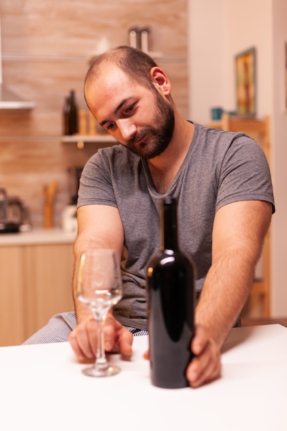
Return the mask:
[[161,388],[189,386],[192,359],[195,264],[178,247],[176,199],[164,198],[160,213],[160,251],[147,266],[151,382]]

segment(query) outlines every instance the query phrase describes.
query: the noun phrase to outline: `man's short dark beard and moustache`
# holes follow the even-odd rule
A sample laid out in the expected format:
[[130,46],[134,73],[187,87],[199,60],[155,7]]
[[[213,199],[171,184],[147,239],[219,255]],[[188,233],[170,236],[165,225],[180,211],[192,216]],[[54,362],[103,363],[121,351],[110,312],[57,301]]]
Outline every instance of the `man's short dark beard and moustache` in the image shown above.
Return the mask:
[[[154,158],[160,156],[167,149],[174,129],[174,112],[169,103],[155,91],[156,109],[154,113],[154,122],[156,127],[146,126],[135,134],[126,143],[127,148],[134,154],[145,158]],[[147,135],[145,140],[136,144],[143,136]]]

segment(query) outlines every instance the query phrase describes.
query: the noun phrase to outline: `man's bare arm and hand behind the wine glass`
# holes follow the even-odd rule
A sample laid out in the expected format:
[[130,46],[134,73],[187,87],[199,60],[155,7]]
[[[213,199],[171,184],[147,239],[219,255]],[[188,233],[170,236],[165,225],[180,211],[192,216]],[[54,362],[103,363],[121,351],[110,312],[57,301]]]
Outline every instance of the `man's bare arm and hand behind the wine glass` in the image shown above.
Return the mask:
[[[86,205],[78,208],[78,233],[74,244],[73,298],[77,326],[69,341],[78,359],[96,356],[96,322],[89,306],[78,302],[76,282],[81,253],[88,248],[114,249],[120,260],[123,249],[123,224],[118,209],[107,205]],[[105,325],[106,350],[120,350],[131,354],[132,335],[108,314]]]

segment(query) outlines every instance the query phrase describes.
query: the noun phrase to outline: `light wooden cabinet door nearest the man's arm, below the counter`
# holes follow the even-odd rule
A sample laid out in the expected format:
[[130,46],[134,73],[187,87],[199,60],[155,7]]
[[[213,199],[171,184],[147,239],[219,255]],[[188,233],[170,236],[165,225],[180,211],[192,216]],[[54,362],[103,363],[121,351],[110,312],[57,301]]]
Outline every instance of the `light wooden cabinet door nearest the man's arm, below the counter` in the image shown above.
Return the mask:
[[72,244],[25,246],[28,302],[27,334],[47,324],[52,315],[72,311]]

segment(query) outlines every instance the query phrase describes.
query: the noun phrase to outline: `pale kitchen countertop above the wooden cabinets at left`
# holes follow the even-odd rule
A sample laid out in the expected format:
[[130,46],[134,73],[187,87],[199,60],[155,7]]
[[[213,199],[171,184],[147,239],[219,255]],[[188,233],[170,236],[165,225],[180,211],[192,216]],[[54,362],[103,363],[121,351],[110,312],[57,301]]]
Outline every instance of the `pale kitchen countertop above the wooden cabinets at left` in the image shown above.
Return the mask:
[[32,229],[30,232],[1,233],[0,246],[23,246],[32,244],[73,244],[76,232],[59,228]]

